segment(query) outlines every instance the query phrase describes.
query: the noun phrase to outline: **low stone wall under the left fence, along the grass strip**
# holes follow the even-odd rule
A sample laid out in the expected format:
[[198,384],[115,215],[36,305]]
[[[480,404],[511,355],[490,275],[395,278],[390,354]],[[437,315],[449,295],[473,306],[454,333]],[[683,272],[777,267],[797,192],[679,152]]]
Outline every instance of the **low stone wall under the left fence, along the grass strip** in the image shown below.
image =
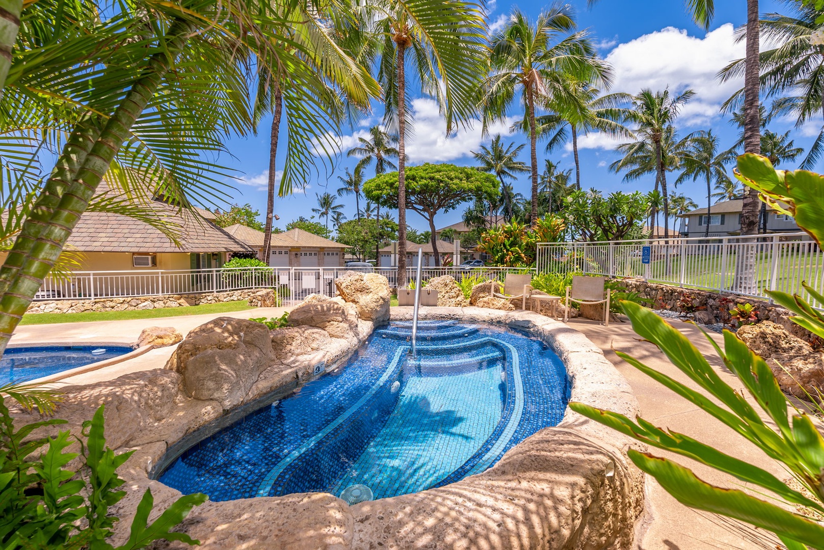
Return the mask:
[[[248,300],[250,297],[255,296],[259,292],[261,292],[260,289],[253,288],[244,291],[173,294],[170,296],[101,298],[100,300],[33,301],[31,302],[31,305],[29,305],[29,309],[26,310],[26,313],[82,313],[85,311],[154,310],[162,307],[186,307],[188,305],[218,304],[226,301]],[[269,307],[271,307],[271,305]]]

